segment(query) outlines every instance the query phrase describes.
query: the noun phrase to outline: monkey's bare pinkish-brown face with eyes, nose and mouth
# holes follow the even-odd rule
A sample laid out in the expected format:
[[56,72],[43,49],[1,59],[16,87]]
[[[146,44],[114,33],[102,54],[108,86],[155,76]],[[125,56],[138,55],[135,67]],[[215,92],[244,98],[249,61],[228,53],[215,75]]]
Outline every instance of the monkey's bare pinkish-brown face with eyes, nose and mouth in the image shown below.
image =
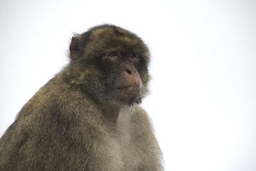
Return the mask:
[[140,65],[139,54],[110,51],[100,62],[108,98],[128,105],[141,103],[142,82],[136,68]]

